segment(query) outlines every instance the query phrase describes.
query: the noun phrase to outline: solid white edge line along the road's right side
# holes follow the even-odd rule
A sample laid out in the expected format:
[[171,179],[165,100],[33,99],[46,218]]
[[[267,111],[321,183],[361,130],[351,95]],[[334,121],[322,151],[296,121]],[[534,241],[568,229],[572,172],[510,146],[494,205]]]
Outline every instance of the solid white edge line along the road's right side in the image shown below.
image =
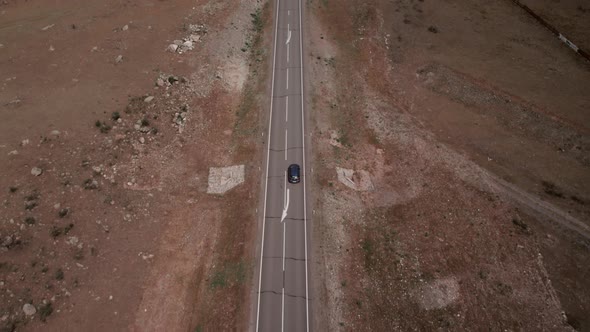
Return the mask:
[[[280,1],[280,0],[278,0]],[[301,23],[301,0],[299,0],[299,61],[301,68],[301,140],[302,140],[302,151],[303,151],[303,231],[305,233],[305,323],[306,331],[309,331],[309,284],[308,284],[308,271],[307,271],[307,199],[305,194],[305,116],[303,115],[303,25]]]

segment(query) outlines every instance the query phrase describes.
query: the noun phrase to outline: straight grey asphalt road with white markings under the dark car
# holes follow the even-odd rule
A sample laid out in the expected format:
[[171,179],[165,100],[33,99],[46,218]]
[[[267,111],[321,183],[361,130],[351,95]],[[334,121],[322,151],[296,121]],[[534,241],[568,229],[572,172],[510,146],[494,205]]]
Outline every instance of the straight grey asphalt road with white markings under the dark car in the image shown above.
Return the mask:
[[[309,331],[301,0],[276,0],[257,331]],[[286,178],[301,166],[301,182]]]

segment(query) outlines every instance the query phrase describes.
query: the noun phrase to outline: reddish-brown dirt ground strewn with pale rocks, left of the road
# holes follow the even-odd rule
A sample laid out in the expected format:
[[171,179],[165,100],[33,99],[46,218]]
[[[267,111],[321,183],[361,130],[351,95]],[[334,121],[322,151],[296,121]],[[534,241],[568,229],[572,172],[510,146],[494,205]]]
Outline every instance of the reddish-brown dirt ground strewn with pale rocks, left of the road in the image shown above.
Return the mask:
[[1,331],[247,328],[267,7],[0,3]]

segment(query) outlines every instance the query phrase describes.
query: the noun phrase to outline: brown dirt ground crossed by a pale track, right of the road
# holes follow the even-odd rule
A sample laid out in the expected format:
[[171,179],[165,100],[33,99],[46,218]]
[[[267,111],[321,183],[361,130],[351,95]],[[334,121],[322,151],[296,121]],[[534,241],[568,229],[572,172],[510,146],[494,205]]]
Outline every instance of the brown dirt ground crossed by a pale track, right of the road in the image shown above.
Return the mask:
[[589,331],[590,63],[512,1],[307,3],[316,329]]

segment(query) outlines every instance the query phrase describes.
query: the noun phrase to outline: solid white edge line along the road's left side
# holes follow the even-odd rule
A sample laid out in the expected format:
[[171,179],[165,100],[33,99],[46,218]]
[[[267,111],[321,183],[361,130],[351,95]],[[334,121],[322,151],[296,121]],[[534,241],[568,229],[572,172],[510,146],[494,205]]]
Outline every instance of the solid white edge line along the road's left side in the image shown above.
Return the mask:
[[266,151],[266,176],[264,177],[264,211],[262,212],[262,238],[260,239],[260,271],[258,274],[258,304],[256,309],[256,331],[260,324],[260,289],[262,286],[262,261],[264,257],[264,226],[266,224],[266,197],[268,194],[268,163],[270,161],[270,137],[272,130],[272,100],[274,95],[274,83],[275,83],[275,65],[277,56],[277,36],[279,33],[279,7],[281,0],[277,0],[277,11],[275,21],[275,44],[272,53],[272,78],[270,86],[270,117],[268,119],[268,140],[267,140],[267,151]]

